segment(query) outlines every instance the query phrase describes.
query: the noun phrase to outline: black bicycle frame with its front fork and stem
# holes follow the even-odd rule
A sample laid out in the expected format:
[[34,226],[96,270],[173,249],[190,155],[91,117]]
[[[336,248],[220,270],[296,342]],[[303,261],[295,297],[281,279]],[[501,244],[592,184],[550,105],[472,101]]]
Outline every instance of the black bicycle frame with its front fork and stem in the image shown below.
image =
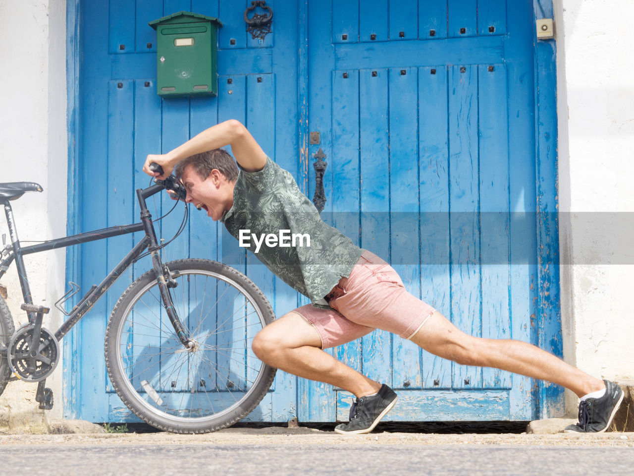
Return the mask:
[[[18,280],[20,281],[20,287],[22,288],[22,295],[24,302],[32,304],[32,296],[30,293],[29,280],[27,279],[27,271],[24,267],[22,257],[24,255],[30,255],[32,253],[39,253],[41,251],[48,251],[56,248],[65,248],[74,244],[87,243],[90,241],[97,241],[119,235],[131,234],[145,231],[145,237],[139,241],[133,249],[119,262],[119,264],[100,282],[100,284],[93,286],[86,295],[79,301],[79,303],[73,308],[68,315],[68,319],[61,324],[60,328],[55,332],[55,338],[59,341],[70,329],[79,322],[79,319],[84,317],[86,313],[91,310],[94,303],[108,291],[108,288],[117,281],[117,278],[124,273],[124,271],[136,261],[141,253],[146,249],[149,249],[152,256],[152,266],[157,274],[157,280],[159,281],[160,294],[163,300],[165,311],[169,317],[169,320],[174,326],[174,331],[179,336],[181,343],[185,347],[191,347],[192,343],[186,337],[183,324],[178,319],[176,312],[174,311],[174,305],[172,303],[171,296],[169,294],[169,280],[171,277],[169,274],[165,276],[166,270],[162,264],[159,254],[159,246],[157,244],[157,238],[154,230],[154,224],[152,222],[152,215],[147,209],[145,199],[157,194],[166,187],[162,183],[160,185],[152,185],[148,188],[138,188],[136,190],[137,199],[141,208],[141,223],[133,223],[132,225],[124,225],[117,227],[103,228],[101,230],[93,230],[91,232],[80,233],[68,237],[53,239],[44,241],[33,246],[21,246],[18,239],[18,233],[15,227],[15,221],[13,220],[13,210],[8,199],[4,199],[0,203],[4,206],[4,213],[6,215],[6,222],[9,227],[9,234],[11,237],[11,247],[8,256],[0,262],[0,278],[3,277],[6,270],[8,270],[11,262],[15,260],[15,265],[18,270]],[[6,248],[5,248],[6,249]],[[29,315],[30,324],[34,324],[36,314],[33,312],[27,313]]]

